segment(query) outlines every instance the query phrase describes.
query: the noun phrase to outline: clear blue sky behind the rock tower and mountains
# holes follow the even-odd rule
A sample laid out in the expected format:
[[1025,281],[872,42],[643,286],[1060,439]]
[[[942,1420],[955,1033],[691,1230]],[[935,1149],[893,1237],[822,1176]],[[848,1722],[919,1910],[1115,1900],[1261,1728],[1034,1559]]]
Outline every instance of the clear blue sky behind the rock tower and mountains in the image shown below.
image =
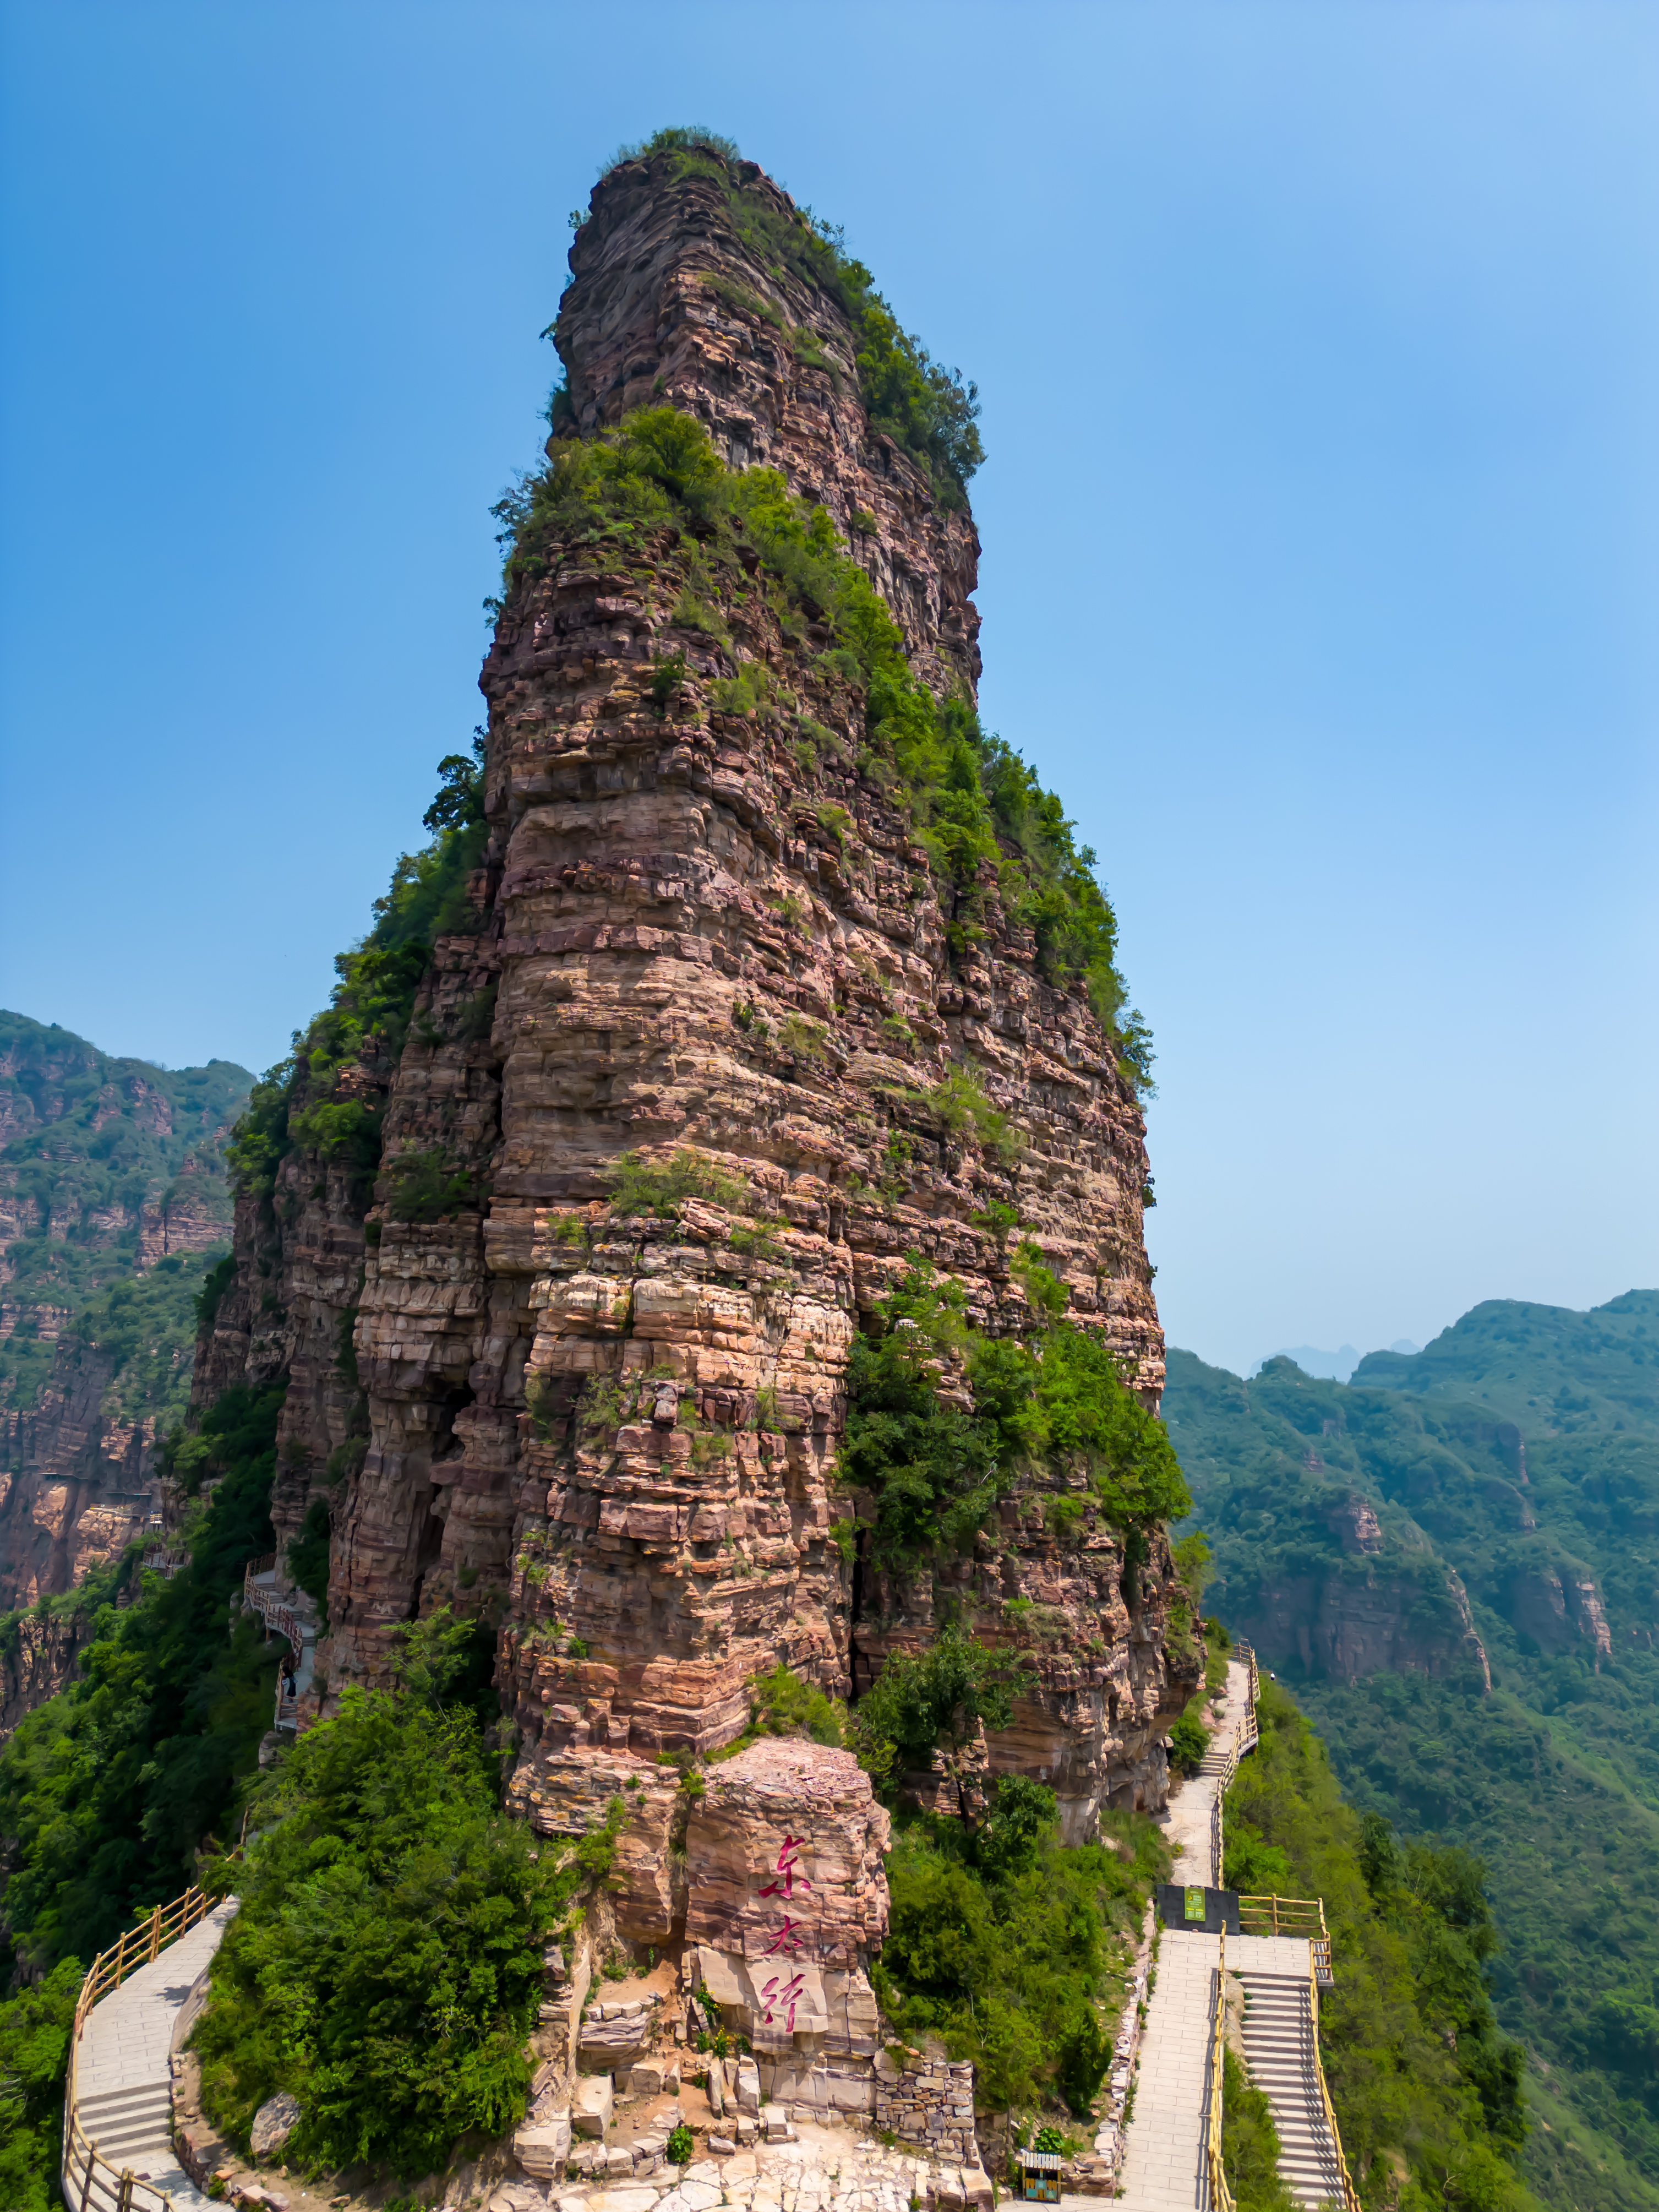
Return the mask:
[[661,122],[980,385],[987,719],[1159,1048],[1175,1343],[1659,1281],[1659,13],[0,9],[0,1004],[263,1066],[480,719]]

